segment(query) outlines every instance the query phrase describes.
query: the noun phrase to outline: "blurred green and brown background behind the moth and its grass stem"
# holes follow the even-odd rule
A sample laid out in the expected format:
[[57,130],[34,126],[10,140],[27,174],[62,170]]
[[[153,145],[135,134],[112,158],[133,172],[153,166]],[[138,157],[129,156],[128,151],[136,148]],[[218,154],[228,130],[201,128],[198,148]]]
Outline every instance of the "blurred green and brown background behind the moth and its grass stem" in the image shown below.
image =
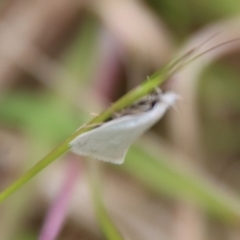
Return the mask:
[[[178,54],[240,38],[239,14],[235,0],[3,1],[1,189]],[[226,43],[164,84],[181,100],[123,165],[66,154],[14,193],[0,206],[0,239],[52,239],[39,236],[72,161],[56,239],[239,239],[239,47]]]

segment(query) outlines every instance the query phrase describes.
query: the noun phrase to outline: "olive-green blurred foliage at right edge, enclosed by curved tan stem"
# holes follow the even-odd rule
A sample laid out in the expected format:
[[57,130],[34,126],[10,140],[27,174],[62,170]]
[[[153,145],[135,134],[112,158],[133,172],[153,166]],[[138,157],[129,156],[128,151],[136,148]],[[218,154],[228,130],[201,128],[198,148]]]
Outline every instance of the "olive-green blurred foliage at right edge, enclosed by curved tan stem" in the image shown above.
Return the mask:
[[219,154],[239,149],[240,77],[233,67],[216,63],[202,76],[200,97],[205,134],[205,144]]

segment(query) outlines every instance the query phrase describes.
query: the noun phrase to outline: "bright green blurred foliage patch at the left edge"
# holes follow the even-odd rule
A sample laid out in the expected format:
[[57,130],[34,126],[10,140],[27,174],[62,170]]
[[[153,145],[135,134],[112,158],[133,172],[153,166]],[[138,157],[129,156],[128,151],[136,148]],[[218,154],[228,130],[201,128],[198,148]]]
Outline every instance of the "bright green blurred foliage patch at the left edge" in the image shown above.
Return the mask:
[[11,92],[0,103],[0,115],[8,127],[23,129],[48,144],[64,140],[81,124],[66,101],[47,92]]

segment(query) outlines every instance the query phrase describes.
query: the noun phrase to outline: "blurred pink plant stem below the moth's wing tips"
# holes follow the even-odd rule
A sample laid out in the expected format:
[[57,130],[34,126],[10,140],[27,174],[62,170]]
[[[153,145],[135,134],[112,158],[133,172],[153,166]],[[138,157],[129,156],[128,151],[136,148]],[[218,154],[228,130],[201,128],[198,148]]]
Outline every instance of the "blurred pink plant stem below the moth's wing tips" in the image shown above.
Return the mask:
[[75,157],[71,158],[72,159],[69,161],[69,169],[67,171],[66,179],[62,184],[59,195],[47,214],[38,238],[39,240],[56,239],[66,218],[68,204],[79,175],[79,159],[76,159]]

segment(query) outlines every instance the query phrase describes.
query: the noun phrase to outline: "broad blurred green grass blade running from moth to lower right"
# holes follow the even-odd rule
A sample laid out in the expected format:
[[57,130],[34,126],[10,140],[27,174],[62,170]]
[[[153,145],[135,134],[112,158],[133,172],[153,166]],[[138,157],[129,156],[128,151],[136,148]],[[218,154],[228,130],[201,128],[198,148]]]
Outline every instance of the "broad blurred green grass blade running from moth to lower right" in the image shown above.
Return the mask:
[[144,145],[132,147],[121,168],[157,194],[191,201],[223,221],[239,223],[239,198],[214,185],[194,169],[175,163],[179,159],[165,154],[166,150],[160,144],[144,142]]

